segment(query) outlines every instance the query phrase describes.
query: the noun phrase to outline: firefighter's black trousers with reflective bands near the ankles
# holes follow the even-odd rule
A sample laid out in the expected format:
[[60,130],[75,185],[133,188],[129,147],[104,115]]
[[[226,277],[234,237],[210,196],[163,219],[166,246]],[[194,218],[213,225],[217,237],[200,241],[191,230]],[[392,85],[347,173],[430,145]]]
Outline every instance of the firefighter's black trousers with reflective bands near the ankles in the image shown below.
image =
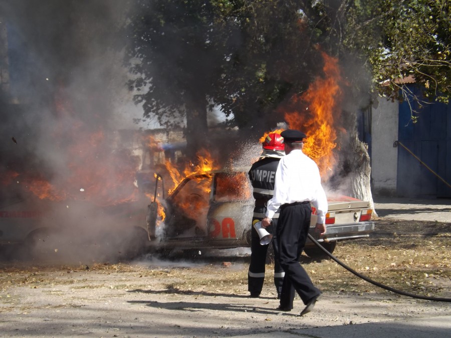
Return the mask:
[[[266,207],[255,207],[254,212],[265,214]],[[263,218],[253,217],[254,220],[261,221]],[[276,286],[278,297],[282,292],[284,280],[284,270],[279,263],[278,239],[275,229],[277,228],[277,218],[273,221],[273,225],[266,228],[269,233],[273,234],[273,240],[268,245],[260,244],[260,237],[257,230],[252,227],[251,230],[251,263],[248,272],[248,290],[251,294],[260,294],[262,292],[263,283],[265,281],[266,256],[270,245],[274,250],[274,285]]]

